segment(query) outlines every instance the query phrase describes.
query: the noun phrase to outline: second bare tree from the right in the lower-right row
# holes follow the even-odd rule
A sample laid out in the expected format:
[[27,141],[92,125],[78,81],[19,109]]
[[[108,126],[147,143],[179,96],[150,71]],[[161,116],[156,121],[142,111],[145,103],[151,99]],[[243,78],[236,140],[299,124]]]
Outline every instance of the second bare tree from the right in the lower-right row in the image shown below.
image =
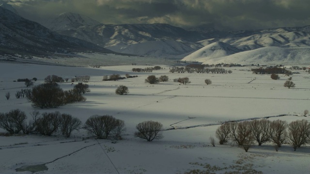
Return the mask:
[[268,131],[270,141],[278,145],[278,147],[281,147],[281,145],[284,144],[286,141],[286,135],[287,135],[286,128],[287,128],[286,121],[278,119],[270,122]]

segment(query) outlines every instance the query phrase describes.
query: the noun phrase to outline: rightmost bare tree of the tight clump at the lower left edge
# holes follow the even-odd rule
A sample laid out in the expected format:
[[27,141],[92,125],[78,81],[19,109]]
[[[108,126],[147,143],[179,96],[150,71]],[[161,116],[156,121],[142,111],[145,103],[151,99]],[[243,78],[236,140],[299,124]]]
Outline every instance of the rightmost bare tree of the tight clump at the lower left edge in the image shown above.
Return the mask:
[[82,122],[78,118],[73,117],[69,114],[62,114],[60,126],[62,135],[70,137],[71,132],[74,130],[78,130],[81,124]]

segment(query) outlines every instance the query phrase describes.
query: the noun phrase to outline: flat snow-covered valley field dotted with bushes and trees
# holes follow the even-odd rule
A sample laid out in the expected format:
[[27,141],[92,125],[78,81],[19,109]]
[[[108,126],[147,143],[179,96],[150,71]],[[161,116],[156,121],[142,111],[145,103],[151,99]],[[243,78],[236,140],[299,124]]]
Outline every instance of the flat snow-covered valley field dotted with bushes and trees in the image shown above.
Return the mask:
[[[90,75],[91,92],[84,94],[86,102],[78,102],[56,109],[36,109],[40,113],[59,111],[78,117],[83,123],[89,116],[110,115],[122,119],[126,125],[124,140],[95,140],[84,130],[74,131],[71,138],[61,135],[0,136],[0,173],[16,174],[21,166],[44,164],[48,170],[42,174],[184,174],[189,170],[225,172],[260,171],[264,174],[306,174],[310,171],[310,147],[296,151],[283,145],[279,151],[272,144],[254,145],[245,152],[237,146],[210,146],[209,137],[215,137],[223,121],[271,117],[288,122],[307,119],[302,116],[310,109],[310,74],[300,71],[292,75],[296,87],[283,87],[288,77],[252,74],[251,67],[225,68],[231,74],[169,73],[169,66],[152,73],[133,73],[132,68],[154,65],[120,65],[101,68],[79,68],[37,64],[0,63],[0,112],[20,109],[25,113],[35,110],[31,102],[16,99],[17,90],[25,88],[18,78],[38,78],[41,84],[47,75],[55,74],[71,79]],[[102,81],[103,75],[118,73],[136,78],[119,81]],[[148,75],[168,75],[170,80],[156,85],[144,83]],[[188,85],[174,83],[173,79],[188,77]],[[205,79],[212,84],[206,85]],[[71,82],[61,83],[65,90],[73,88]],[[129,88],[129,94],[119,96],[119,85]],[[6,92],[11,98],[6,100]],[[28,114],[29,119],[31,116]],[[188,119],[189,117],[194,117]],[[136,125],[153,120],[163,124],[164,138],[147,142],[133,136]],[[184,120],[184,121],[182,121]],[[174,124],[176,123],[176,124]],[[185,129],[187,128],[187,129]],[[4,130],[0,129],[0,132]],[[84,148],[85,147],[85,148]],[[76,152],[77,151],[77,152]],[[75,152],[75,153],[74,153]],[[63,157],[63,158],[62,158]],[[58,159],[60,158],[60,159]],[[58,160],[56,160],[58,159]],[[210,166],[208,165],[210,164]],[[211,172],[210,172],[211,173]]]

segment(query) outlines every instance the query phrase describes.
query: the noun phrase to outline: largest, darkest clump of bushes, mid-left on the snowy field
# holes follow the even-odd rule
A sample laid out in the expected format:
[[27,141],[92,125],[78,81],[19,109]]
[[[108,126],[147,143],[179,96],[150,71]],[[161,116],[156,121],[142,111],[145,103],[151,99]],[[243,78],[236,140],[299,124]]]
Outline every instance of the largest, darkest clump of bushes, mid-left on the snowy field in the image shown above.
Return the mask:
[[57,108],[68,103],[86,101],[82,92],[90,92],[88,85],[79,84],[74,89],[63,91],[57,83],[46,83],[27,90],[26,97],[32,102],[32,107]]

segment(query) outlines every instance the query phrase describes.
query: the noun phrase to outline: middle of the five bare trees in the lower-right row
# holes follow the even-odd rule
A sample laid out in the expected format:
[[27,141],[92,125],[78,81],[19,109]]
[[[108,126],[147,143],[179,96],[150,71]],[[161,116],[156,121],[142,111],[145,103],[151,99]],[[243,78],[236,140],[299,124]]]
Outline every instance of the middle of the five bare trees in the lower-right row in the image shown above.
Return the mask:
[[258,143],[258,145],[262,145],[269,141],[269,120],[261,119],[261,120],[252,120],[250,121],[250,127],[252,131],[252,136]]

